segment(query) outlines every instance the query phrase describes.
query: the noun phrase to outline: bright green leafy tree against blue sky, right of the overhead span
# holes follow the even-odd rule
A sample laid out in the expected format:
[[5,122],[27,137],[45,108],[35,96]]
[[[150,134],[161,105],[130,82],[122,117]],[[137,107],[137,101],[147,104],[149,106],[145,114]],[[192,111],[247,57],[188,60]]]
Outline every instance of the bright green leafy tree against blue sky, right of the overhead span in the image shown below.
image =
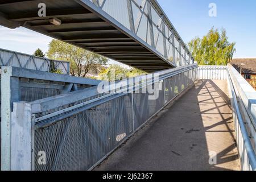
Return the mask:
[[226,65],[232,60],[236,43],[229,43],[226,30],[211,28],[203,38],[188,43],[192,56],[199,65]]

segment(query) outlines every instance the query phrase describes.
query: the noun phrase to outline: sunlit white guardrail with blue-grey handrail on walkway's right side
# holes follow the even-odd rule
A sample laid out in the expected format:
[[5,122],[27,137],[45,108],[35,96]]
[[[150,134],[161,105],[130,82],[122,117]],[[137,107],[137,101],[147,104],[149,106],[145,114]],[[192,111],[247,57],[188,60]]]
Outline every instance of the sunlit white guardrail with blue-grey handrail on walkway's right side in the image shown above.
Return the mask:
[[242,170],[256,170],[256,91],[228,65],[229,95]]

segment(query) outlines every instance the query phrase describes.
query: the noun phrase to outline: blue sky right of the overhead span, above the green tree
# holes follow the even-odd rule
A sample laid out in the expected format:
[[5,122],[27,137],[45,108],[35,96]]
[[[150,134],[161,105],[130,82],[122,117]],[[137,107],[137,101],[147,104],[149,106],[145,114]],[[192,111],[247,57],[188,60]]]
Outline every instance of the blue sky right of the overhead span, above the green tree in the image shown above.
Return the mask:
[[[234,57],[256,57],[255,0],[158,0],[181,38],[188,43],[207,34],[211,27],[225,28],[230,42],[236,42]],[[217,17],[209,16],[209,4],[216,3]]]

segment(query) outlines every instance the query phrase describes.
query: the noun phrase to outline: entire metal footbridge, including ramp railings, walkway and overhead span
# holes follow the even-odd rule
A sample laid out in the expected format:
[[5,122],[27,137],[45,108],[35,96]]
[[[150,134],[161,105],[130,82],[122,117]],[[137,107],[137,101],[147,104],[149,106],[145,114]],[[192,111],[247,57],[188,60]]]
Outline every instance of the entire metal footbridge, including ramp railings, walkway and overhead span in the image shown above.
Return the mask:
[[2,170],[256,169],[255,90],[232,65],[193,63],[155,0],[3,0],[0,24],[148,72],[101,82],[0,49]]

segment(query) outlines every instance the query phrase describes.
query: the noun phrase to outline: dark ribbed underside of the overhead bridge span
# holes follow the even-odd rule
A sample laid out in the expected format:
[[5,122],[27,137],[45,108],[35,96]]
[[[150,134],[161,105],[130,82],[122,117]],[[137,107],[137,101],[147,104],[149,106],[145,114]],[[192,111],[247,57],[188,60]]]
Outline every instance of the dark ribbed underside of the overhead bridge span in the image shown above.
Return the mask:
[[[47,5],[46,17],[38,16],[41,2]],[[60,26],[50,23],[51,18],[60,19]],[[0,24],[10,28],[23,26],[146,72],[174,67],[79,1],[1,1]]]

